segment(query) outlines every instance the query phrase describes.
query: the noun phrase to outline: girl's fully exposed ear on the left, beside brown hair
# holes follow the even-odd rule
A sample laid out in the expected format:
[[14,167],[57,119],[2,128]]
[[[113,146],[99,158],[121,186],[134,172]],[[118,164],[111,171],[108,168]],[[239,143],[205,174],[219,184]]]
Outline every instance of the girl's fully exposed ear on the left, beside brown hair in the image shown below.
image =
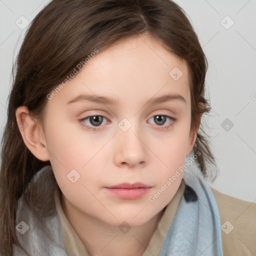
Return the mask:
[[30,115],[27,106],[20,106],[16,109],[16,120],[26,147],[39,160],[49,160],[42,125]]

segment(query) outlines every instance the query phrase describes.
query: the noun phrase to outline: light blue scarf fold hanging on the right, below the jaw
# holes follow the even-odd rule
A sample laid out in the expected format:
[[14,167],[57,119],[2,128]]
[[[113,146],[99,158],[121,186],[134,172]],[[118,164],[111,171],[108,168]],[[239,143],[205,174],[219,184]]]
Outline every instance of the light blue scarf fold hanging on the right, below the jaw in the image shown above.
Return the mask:
[[186,184],[159,256],[223,256],[217,204],[203,178],[183,173]]

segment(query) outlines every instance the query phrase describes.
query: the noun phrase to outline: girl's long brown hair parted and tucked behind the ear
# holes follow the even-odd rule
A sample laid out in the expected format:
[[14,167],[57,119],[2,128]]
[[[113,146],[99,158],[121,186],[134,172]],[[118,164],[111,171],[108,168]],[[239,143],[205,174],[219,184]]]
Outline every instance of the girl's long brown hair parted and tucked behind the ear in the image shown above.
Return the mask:
[[[46,201],[39,200],[38,188],[33,183],[41,168],[51,168],[50,162],[40,161],[25,146],[15,117],[17,107],[25,105],[33,116],[42,119],[46,95],[95,48],[102,51],[117,40],[143,33],[187,62],[191,129],[195,130],[199,114],[210,110],[204,98],[207,60],[184,10],[173,1],[52,0],[30,23],[12,68],[13,84],[1,141],[0,254],[12,255],[12,244],[22,248],[15,232],[18,199],[22,195],[23,203],[29,205],[41,223],[43,216],[53,214],[53,190],[45,189]],[[205,104],[203,109],[199,102]],[[201,127],[199,130],[203,132]],[[193,152],[201,152],[196,161],[205,176],[207,163],[215,164],[215,160],[199,130]],[[56,181],[52,171],[49,173],[53,181],[40,182],[52,187]]]

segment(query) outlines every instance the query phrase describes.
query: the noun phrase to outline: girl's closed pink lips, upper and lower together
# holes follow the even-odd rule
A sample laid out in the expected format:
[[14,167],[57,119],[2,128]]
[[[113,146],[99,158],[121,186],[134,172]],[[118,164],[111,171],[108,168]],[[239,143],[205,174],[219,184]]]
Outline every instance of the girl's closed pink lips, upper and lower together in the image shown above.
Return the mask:
[[110,194],[122,199],[137,199],[148,193],[151,186],[141,182],[120,183],[113,186],[104,187]]

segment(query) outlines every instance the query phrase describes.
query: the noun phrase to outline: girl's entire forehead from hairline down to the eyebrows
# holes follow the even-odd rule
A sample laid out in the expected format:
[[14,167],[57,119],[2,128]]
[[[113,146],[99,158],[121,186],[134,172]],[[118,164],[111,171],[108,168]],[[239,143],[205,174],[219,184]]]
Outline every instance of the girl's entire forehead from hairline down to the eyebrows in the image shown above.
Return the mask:
[[188,105],[185,61],[147,35],[125,38],[91,57],[54,100],[68,102],[81,93],[102,94],[134,102],[163,93],[181,94]]

